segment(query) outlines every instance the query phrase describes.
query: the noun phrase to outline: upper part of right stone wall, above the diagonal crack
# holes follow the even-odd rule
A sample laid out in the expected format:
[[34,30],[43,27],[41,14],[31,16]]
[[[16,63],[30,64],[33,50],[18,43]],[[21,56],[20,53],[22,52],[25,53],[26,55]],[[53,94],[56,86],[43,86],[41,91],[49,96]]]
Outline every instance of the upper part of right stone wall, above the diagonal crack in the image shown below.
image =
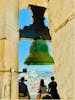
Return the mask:
[[54,33],[69,20],[70,16],[74,16],[74,0],[50,0],[48,14],[50,30]]

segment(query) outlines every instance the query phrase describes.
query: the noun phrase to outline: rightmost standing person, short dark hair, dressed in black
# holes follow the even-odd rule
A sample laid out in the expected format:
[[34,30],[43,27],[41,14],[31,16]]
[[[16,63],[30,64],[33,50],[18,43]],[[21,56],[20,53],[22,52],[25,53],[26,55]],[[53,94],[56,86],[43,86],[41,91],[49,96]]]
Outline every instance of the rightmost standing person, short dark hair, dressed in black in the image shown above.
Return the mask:
[[54,76],[51,77],[51,82],[48,84],[48,92],[51,94],[53,99],[60,99]]

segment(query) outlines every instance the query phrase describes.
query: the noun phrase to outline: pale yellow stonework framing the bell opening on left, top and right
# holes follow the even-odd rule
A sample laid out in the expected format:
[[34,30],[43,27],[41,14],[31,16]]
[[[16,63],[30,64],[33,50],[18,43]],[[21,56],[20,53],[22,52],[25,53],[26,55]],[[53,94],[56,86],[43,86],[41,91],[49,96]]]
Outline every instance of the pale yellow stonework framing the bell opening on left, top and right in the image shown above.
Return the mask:
[[[74,99],[74,1],[48,1],[47,3],[45,0],[41,2],[40,0],[24,0],[26,4],[28,2],[48,7],[48,19],[51,25],[52,49],[55,60],[54,71],[60,96],[64,99]],[[6,70],[14,68],[15,72],[18,71],[18,2],[18,0],[1,0],[0,3],[0,20],[2,21],[2,24],[0,23],[1,91],[3,90],[3,81],[6,81],[7,77],[9,78],[10,76],[10,71],[7,73]],[[26,7],[28,6],[26,5]],[[62,48],[62,46],[64,47]],[[12,77],[11,98],[18,98],[17,83],[13,84],[13,81],[17,81],[17,73],[15,72]],[[61,77],[60,73],[62,73]],[[70,79],[68,79],[68,76]],[[65,82],[67,86],[64,84]],[[16,88],[15,91],[14,88]],[[4,96],[1,91],[0,98],[10,98],[10,92]]]

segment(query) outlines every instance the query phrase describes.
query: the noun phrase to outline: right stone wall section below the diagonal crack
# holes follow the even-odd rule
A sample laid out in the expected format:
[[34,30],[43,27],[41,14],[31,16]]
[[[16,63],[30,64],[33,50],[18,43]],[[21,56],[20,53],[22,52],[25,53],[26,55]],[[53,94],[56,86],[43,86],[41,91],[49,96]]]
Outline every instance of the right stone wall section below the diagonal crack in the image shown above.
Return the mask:
[[74,20],[53,34],[54,75],[61,98],[74,99]]

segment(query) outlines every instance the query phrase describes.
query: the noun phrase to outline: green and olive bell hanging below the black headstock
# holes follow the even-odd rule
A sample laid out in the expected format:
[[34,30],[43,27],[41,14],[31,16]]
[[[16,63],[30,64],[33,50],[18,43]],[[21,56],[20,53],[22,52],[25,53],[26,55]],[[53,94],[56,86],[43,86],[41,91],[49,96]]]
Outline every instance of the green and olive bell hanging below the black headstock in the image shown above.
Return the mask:
[[25,60],[27,65],[49,65],[54,64],[53,58],[48,53],[45,40],[34,40],[30,47],[30,55]]

